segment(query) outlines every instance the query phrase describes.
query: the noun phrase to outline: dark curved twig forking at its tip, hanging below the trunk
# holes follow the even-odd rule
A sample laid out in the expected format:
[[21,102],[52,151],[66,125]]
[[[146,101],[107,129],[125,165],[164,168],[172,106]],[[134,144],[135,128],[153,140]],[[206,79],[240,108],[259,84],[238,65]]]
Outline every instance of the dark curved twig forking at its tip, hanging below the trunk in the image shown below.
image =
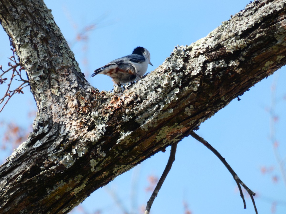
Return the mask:
[[255,213],[258,214],[257,212],[257,208],[253,199],[253,196],[255,196],[255,193],[253,191],[251,191],[251,189],[249,189],[247,187],[247,185],[245,185],[245,183],[243,183],[241,181],[241,179],[237,176],[237,174],[235,173],[235,171],[233,171],[233,169],[231,168],[231,166],[227,163],[227,161],[223,158],[223,156],[221,156],[221,154],[219,154],[219,152],[213,148],[206,140],[204,140],[204,138],[198,136],[196,133],[194,133],[193,131],[190,132],[190,135],[195,138],[196,140],[198,140],[199,142],[201,142],[204,146],[206,146],[210,151],[212,151],[218,158],[219,160],[221,160],[221,162],[223,162],[223,164],[225,165],[225,167],[227,167],[227,169],[229,170],[229,172],[231,173],[231,175],[233,176],[233,179],[235,179],[235,182],[237,183],[237,186],[239,188],[239,192],[240,192],[240,196],[243,200],[243,205],[244,205],[244,209],[246,209],[246,203],[245,203],[245,199],[244,199],[244,195],[241,189],[241,186],[243,186],[243,188],[248,192],[248,194],[251,197],[254,209],[255,209]]

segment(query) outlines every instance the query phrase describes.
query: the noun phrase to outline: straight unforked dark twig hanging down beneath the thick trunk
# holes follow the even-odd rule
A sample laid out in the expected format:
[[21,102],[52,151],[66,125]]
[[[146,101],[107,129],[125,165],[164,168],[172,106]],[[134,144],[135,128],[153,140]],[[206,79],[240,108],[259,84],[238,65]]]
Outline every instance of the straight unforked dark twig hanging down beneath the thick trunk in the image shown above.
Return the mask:
[[154,191],[153,191],[149,201],[147,202],[147,206],[146,206],[144,214],[149,214],[150,213],[150,209],[151,209],[151,206],[153,204],[153,201],[157,197],[158,192],[161,189],[162,184],[164,183],[164,181],[165,181],[165,179],[166,179],[166,177],[167,177],[167,175],[168,175],[168,173],[169,173],[169,171],[170,171],[170,169],[172,167],[172,164],[173,164],[173,162],[175,160],[177,144],[178,143],[174,143],[171,146],[171,152],[170,152],[170,157],[169,157],[168,163],[167,163],[167,165],[166,165],[166,167],[165,167],[165,169],[164,169],[164,171],[162,173],[162,176],[160,177],[160,179],[159,179],[159,181],[158,181],[158,183],[157,183],[157,185],[156,185],[156,187],[155,187],[155,189],[154,189]]

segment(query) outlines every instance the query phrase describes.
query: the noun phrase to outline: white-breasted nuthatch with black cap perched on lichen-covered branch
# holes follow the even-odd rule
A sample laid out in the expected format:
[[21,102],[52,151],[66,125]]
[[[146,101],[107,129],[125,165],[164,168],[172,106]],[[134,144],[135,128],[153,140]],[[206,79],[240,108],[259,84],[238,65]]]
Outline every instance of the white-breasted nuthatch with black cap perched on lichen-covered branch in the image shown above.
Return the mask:
[[147,71],[148,64],[152,65],[149,51],[146,48],[137,47],[132,54],[109,62],[96,69],[91,76],[105,74],[116,84],[126,84],[142,77]]

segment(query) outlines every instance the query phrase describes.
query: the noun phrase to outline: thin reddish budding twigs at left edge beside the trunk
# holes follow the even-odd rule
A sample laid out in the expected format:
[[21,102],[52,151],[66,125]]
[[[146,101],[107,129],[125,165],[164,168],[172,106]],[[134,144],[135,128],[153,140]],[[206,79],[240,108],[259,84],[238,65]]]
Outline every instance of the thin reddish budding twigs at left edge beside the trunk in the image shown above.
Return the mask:
[[[10,39],[10,42],[11,42],[11,39]],[[8,103],[8,101],[11,99],[11,97],[14,94],[17,94],[17,93],[18,94],[20,94],[20,93],[24,94],[22,89],[29,85],[29,81],[23,79],[21,76],[21,71],[23,70],[23,67],[20,66],[19,62],[17,62],[19,60],[16,60],[16,55],[15,55],[16,50],[14,48],[13,43],[11,43],[11,46],[13,47],[13,48],[11,48],[11,51],[13,52],[13,56],[9,57],[9,60],[11,60],[12,63],[8,62],[9,68],[7,70],[3,70],[2,65],[0,65],[0,72],[1,72],[0,73],[0,85],[2,85],[3,83],[6,83],[8,78],[3,78],[3,76],[12,70],[10,81],[7,84],[7,89],[6,89],[3,97],[0,98],[0,105],[2,105],[2,106],[0,106],[1,107],[0,112],[3,110],[3,108],[6,106],[6,104]],[[20,68],[17,70],[18,67],[20,67]],[[18,80],[18,81],[21,81],[22,83],[16,89],[10,90],[13,79],[17,80],[15,78],[16,76],[18,76],[20,78],[20,80]]]

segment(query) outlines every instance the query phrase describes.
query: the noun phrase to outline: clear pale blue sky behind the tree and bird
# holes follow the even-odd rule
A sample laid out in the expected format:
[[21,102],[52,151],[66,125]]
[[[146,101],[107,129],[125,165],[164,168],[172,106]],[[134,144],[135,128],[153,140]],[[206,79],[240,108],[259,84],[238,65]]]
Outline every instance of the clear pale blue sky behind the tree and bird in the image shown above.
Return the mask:
[[[80,68],[88,81],[99,90],[111,90],[113,83],[108,76],[89,75],[107,62],[132,53],[137,46],[151,53],[148,72],[158,67],[170,55],[176,45],[190,45],[205,37],[210,31],[244,9],[249,1],[46,1],[52,9],[55,22],[69,42]],[[94,25],[86,42],[75,41],[78,33]],[[9,40],[1,29],[0,64],[7,65]],[[5,68],[5,67],[4,67]],[[279,152],[286,156],[286,87],[285,67],[256,84],[233,100],[215,116],[201,124],[196,132],[210,142],[228,161],[243,182],[257,193],[255,202],[260,214],[271,213],[271,205],[277,202],[277,214],[286,213],[286,187],[270,140],[271,85],[277,79],[275,115],[276,138]],[[5,88],[0,87],[1,95]],[[15,96],[0,113],[0,121],[13,121],[29,127],[33,118],[28,112],[35,110],[35,102],[25,89],[24,95]],[[19,107],[20,106],[20,107]],[[0,127],[0,134],[3,127]],[[120,204],[132,212],[146,205],[151,192],[146,192],[148,176],[160,177],[168,160],[170,148],[159,152],[134,169],[118,176],[88,197],[81,207],[87,213],[123,213],[110,196],[110,191]],[[9,151],[0,152],[1,160]],[[261,173],[261,167],[274,167],[271,173]],[[284,165],[285,167],[285,165]],[[273,183],[272,176],[278,176]],[[137,179],[134,179],[137,177]],[[135,181],[134,181],[135,180]],[[132,182],[134,181],[134,185]],[[133,193],[132,193],[133,192]],[[132,195],[133,194],[133,195]],[[155,199],[151,213],[184,213],[183,201],[193,214],[253,214],[254,209],[245,193],[247,209],[236,183],[224,165],[207,148],[191,137],[178,144],[176,160],[165,183]],[[73,213],[82,213],[78,208]]]

